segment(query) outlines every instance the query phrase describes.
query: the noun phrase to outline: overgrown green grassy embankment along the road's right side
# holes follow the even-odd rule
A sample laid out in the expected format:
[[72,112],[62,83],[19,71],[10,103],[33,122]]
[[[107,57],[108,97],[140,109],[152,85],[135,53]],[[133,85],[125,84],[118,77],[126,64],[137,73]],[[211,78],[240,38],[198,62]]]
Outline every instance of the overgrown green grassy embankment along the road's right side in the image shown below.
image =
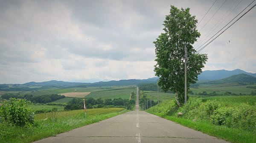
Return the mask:
[[146,111],[232,143],[256,143],[256,96],[190,98],[180,109],[171,99]]

